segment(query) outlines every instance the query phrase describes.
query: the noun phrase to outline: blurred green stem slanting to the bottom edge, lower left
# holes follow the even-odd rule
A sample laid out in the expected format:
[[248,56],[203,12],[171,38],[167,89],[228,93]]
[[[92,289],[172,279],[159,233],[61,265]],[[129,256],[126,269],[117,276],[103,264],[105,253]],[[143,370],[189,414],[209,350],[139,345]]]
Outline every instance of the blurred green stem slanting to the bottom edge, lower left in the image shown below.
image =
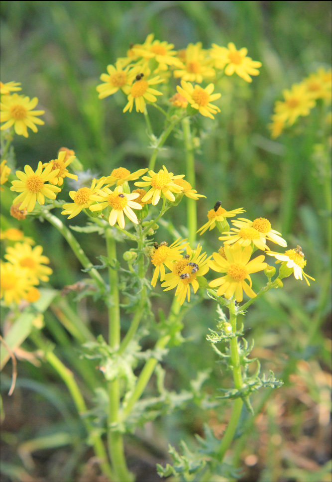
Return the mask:
[[[84,398],[80,392],[80,389],[75,381],[73,373],[62,363],[62,361],[58,359],[58,357],[53,352],[48,350],[46,343],[42,340],[40,336],[33,333],[30,336],[33,339],[35,345],[44,351],[45,359],[50,363],[50,365],[54,368],[54,370],[58,373],[60,378],[62,378],[63,382],[66,384],[79,414],[82,415],[86,413],[87,407]],[[88,418],[83,417],[82,421],[86,427],[89,438],[92,441],[95,454],[101,460],[101,468],[103,470],[103,473],[110,480],[114,480],[114,475],[108,462],[107,452],[105,450],[103,441],[98,433],[98,430],[95,431],[93,425],[90,423]]]

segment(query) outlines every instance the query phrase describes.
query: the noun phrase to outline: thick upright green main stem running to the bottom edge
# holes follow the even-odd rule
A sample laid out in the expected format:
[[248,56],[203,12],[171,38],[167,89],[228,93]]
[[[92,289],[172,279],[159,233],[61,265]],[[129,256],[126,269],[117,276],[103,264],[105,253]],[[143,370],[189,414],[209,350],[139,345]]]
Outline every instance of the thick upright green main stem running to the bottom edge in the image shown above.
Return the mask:
[[[109,261],[116,259],[115,240],[111,236],[111,230],[106,231],[107,253]],[[118,292],[118,275],[115,268],[109,267],[110,299],[109,310],[109,344],[117,351],[120,345],[120,307]],[[115,472],[114,482],[131,481],[131,474],[128,472],[123,447],[122,434],[114,430],[114,425],[119,421],[120,408],[120,385],[119,379],[115,378],[109,382],[109,414],[108,414],[108,445],[112,468]]]

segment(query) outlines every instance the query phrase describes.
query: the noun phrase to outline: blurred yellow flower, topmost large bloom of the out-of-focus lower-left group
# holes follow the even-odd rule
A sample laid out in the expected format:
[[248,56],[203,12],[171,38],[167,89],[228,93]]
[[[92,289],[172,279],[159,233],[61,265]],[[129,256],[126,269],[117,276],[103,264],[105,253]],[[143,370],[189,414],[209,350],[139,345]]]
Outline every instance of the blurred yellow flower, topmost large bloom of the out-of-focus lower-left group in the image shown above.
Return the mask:
[[50,260],[42,255],[42,246],[31,247],[27,243],[16,242],[13,247],[8,246],[4,257],[14,266],[19,266],[26,272],[26,277],[32,284],[39,284],[39,281],[48,281],[53,270],[49,266]]

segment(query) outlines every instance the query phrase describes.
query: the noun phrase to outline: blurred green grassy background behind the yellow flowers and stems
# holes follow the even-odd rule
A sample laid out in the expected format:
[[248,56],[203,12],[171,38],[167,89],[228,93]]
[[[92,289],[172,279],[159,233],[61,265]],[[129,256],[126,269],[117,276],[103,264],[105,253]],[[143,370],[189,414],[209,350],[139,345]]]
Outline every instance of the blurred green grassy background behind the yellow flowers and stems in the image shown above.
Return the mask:
[[[18,168],[53,159],[61,146],[74,149],[85,169],[96,176],[108,175],[119,166],[131,171],[147,166],[150,150],[142,116],[123,114],[121,96],[99,100],[96,86],[106,66],[124,56],[131,42],[142,43],[150,32],[157,39],[174,43],[175,49],[190,42],[201,41],[209,48],[211,43],[226,45],[232,41],[237,48],[247,47],[248,55],[263,64],[250,85],[234,76],[221,82],[221,114],[215,121],[193,121],[197,135],[204,134],[195,154],[197,190],[207,196],[198,201],[198,225],[206,222],[207,211],[221,199],[228,209],[243,206],[250,219],[268,218],[290,247],[300,244],[305,252],[305,271],[316,282],[308,287],[293,276],[284,280],[283,290],[269,292],[243,320],[247,339],[255,339],[253,355],[262,361],[263,371],[272,368],[277,377],[282,375],[285,385],[265,405],[266,394],[255,395],[254,407],[264,406],[263,415],[245,439],[250,446],[235,444],[234,453],[246,469],[246,481],[323,480],[329,477],[325,464],[330,454],[329,418],[323,415],[329,412],[326,391],[331,388],[331,191],[327,188],[329,172],[322,173],[324,159],[315,156],[314,145],[326,141],[331,148],[331,140],[322,136],[322,112],[318,109],[301,118],[299,128],[295,126],[276,141],[270,139],[267,124],[283,89],[320,66],[331,68],[331,3],[2,1],[1,81],[21,82],[22,93],[37,96],[38,109],[45,110],[45,125],[37,134],[14,139]],[[160,117],[157,112],[151,115],[159,133]],[[165,163],[176,174],[184,172],[181,141],[171,135],[167,146],[157,168]],[[1,213],[5,214],[10,202],[6,196],[3,199]],[[169,219],[184,235],[185,206],[172,210]],[[72,224],[83,223],[82,215]],[[82,277],[80,265],[55,230],[28,219],[22,225],[25,234],[38,240],[50,257],[56,288]],[[166,233],[162,229],[156,235],[159,242]],[[217,238],[208,233],[202,236],[209,254],[218,249]],[[104,241],[94,235],[86,236],[82,244],[93,263],[97,262],[95,256],[105,254]],[[160,288],[156,291],[162,293]],[[157,304],[167,307],[171,296],[164,293]],[[82,303],[78,309],[89,313],[96,334],[105,334],[105,313],[98,305],[94,308],[91,299],[87,306],[82,307]],[[129,319],[130,315],[124,314],[124,325]],[[215,364],[205,340],[208,327],[215,327],[215,319],[210,302],[188,313],[184,336],[190,342],[172,349],[164,363],[172,389],[188,388],[197,372],[208,368],[213,370],[204,385],[208,391],[228,386],[228,374]],[[51,330],[49,335],[56,340]],[[63,336],[70,341],[67,333]],[[58,350],[69,362],[70,344]],[[10,369],[6,369],[9,376]],[[65,468],[57,480],[81,480],[79,473],[83,480],[91,469],[79,443],[83,429],[52,371],[44,364],[36,368],[23,361],[11,399],[5,396],[6,390],[4,382],[8,415],[3,428],[3,460],[40,480],[51,481],[60,466]],[[222,433],[228,413],[227,404],[216,412],[202,412],[193,405],[159,420],[149,428],[149,436],[146,431],[136,434],[128,442],[128,453],[138,480],[157,480],[154,465],[166,461],[167,441],[176,445],[183,438],[193,443],[193,433],[202,434],[204,422]],[[24,457],[19,458],[16,451],[24,441],[52,434],[64,420],[77,437],[70,442],[70,452],[63,448],[37,451],[30,466]],[[143,460],[140,464],[139,458]],[[314,479],[310,479],[311,473]],[[3,481],[15,480],[8,471],[3,477]]]

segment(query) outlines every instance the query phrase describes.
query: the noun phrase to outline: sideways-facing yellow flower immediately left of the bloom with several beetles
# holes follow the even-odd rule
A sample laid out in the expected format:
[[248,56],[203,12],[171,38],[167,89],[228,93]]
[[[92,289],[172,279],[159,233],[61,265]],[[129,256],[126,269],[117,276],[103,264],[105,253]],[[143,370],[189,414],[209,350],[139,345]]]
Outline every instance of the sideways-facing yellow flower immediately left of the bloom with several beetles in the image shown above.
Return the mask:
[[182,258],[181,253],[188,245],[188,242],[185,241],[186,240],[181,240],[181,238],[178,238],[170,246],[168,246],[167,242],[163,241],[158,247],[154,248],[154,251],[151,255],[152,264],[154,264],[156,267],[151,281],[153,287],[156,285],[159,272],[160,281],[163,281],[165,279],[165,266],[172,270],[173,262]]

